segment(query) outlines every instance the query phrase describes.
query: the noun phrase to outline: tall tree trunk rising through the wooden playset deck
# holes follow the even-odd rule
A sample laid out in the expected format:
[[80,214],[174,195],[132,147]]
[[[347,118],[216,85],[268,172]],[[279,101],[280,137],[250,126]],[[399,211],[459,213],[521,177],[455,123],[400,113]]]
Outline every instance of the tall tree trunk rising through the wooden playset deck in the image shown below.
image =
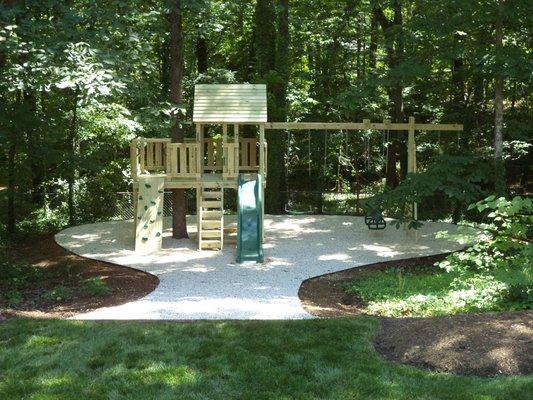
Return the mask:
[[[181,0],[174,0],[170,11],[170,101],[178,105],[183,100],[183,25]],[[179,112],[175,115],[170,134],[172,142],[183,142],[185,133]],[[184,189],[172,189],[172,237],[182,239],[187,234],[187,198]]]

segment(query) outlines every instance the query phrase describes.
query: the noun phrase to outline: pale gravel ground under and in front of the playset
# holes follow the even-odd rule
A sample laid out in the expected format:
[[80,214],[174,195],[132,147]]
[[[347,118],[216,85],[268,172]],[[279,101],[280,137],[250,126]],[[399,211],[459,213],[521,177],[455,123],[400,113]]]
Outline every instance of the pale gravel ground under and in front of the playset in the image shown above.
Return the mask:
[[[188,222],[192,233],[195,217]],[[362,217],[266,216],[265,263],[239,265],[235,263],[235,245],[225,246],[222,252],[199,252],[192,240],[173,239],[169,225],[170,220],[165,220],[163,249],[150,255],[133,251],[132,221],[82,225],[58,233],[57,243],[73,253],[137,268],[160,279],[159,286],[140,300],[76,318],[312,318],[298,299],[298,289],[305,279],[462,247],[435,238],[438,231],[456,230],[456,226],[445,223],[426,223],[418,231],[395,227],[369,231]]]

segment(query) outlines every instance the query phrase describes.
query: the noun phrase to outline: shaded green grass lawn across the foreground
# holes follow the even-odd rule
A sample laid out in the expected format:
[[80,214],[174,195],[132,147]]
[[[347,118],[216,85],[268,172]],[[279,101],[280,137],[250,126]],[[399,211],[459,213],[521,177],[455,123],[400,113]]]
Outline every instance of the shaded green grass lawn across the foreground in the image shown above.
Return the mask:
[[530,399],[532,377],[386,362],[370,317],[0,324],[0,399]]

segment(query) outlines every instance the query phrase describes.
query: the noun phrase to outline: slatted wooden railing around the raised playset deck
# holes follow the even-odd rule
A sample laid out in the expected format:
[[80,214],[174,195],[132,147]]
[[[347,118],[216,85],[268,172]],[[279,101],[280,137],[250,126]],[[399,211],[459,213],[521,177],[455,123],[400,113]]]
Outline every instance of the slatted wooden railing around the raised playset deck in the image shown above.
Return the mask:
[[[132,177],[163,173],[172,178],[199,178],[201,172],[236,178],[239,172],[259,171],[259,141],[240,138],[223,144],[220,139],[171,143],[170,139],[135,139],[131,142]],[[264,147],[266,160],[266,143]],[[265,165],[266,172],[266,165]]]

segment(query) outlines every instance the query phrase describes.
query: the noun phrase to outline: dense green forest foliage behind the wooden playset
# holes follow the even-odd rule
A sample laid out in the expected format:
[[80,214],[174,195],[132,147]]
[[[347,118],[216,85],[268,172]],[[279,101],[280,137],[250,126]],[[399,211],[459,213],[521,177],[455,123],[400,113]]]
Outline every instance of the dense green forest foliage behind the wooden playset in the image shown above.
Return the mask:
[[[181,4],[182,104],[169,102],[169,2],[28,0],[0,5],[0,153],[16,154],[12,161],[0,157],[0,187],[8,186],[10,168],[16,171],[16,187],[10,191],[14,212],[4,206],[7,191],[0,191],[0,206],[16,217],[23,234],[65,224],[67,180],[76,181],[72,222],[109,218],[116,199],[103,192],[127,190],[127,143],[133,136],[168,137],[176,113],[184,116],[180,122],[186,135],[194,136],[189,121],[195,83],[266,82],[271,120],[404,122],[415,115],[417,121],[463,123],[459,138],[417,133],[418,165],[424,170],[457,144],[468,154],[492,156],[494,74],[503,73],[504,159],[508,178],[514,180],[508,184],[523,192],[531,164],[533,93],[527,2],[504,2],[501,13],[495,2],[459,0]],[[385,32],[375,12],[383,11],[392,21],[394,4],[402,8],[401,26]],[[497,18],[505,27],[498,53],[493,45]],[[394,57],[388,54],[391,41]],[[201,43],[206,45],[207,72],[200,74]],[[398,101],[391,93],[395,87],[401,92],[401,116],[392,113]],[[242,134],[252,132],[245,128]],[[325,142],[325,132],[315,132],[309,141],[305,132],[294,132],[287,143],[279,132],[268,136],[267,204],[272,209],[283,208],[285,182],[301,191],[371,192],[382,184],[385,145],[393,137],[330,131]],[[399,145],[401,153],[403,137]],[[478,159],[471,159],[466,172],[473,178]],[[442,172],[460,176],[448,171],[449,161],[441,160]],[[451,161],[452,169],[456,161]],[[485,170],[486,163],[480,165]],[[439,178],[446,193],[429,193],[431,180],[423,177],[416,184],[408,178],[406,185],[420,191],[421,217],[457,221],[466,204],[486,195],[485,183],[470,178]],[[98,202],[110,207],[99,208]],[[400,202],[386,198],[383,203],[391,215],[405,213]]]

